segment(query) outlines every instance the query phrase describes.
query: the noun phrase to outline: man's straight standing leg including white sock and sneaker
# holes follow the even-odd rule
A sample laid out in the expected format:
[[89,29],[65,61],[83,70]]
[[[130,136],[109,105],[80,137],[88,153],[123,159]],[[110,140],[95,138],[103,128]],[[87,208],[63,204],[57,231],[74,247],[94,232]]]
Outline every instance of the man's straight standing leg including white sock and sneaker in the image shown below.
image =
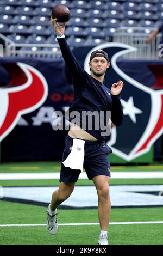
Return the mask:
[[97,194],[98,194],[98,218],[101,228],[101,233],[98,237],[99,245],[108,245],[108,225],[110,217],[110,196],[109,196],[109,177],[104,175],[95,176],[92,178]]

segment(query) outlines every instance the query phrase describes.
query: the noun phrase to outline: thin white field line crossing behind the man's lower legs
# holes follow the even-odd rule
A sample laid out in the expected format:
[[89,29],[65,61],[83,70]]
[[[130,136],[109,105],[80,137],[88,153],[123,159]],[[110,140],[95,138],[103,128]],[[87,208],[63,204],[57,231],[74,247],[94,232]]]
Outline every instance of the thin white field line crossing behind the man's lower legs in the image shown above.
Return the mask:
[[[163,224],[163,221],[137,221],[137,222],[110,222],[109,225],[131,225],[131,224]],[[98,222],[92,223],[62,223],[60,226],[78,226],[78,225],[99,225]],[[39,227],[46,224],[4,224],[0,227]]]

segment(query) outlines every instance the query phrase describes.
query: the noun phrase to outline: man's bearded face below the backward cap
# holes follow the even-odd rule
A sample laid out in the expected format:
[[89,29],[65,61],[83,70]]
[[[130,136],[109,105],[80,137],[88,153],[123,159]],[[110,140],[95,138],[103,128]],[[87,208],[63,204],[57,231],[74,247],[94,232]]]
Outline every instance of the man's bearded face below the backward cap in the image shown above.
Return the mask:
[[110,66],[110,62],[107,62],[104,57],[98,57],[98,54],[96,54],[96,57],[89,62],[89,66],[91,68],[91,72],[95,76],[99,77],[105,74],[106,69]]

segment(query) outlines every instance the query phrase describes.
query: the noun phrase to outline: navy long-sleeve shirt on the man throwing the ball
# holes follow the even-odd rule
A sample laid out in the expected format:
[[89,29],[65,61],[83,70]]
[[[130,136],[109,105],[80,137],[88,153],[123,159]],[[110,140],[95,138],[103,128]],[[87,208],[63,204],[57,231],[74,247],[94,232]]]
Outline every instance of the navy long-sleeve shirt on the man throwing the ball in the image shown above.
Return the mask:
[[[104,125],[108,124],[106,120],[106,112],[111,111],[111,121],[115,125],[121,125],[123,120],[123,111],[120,101],[120,95],[111,95],[111,90],[104,86],[79,65],[73,53],[71,52],[65,38],[58,38],[62,57],[65,60],[67,68],[70,70],[73,77],[74,86],[74,100],[70,106],[69,112],[78,111],[80,117],[82,113],[90,111],[91,113],[96,111],[98,113],[104,113]],[[75,118],[75,117],[74,117]],[[73,118],[69,118],[71,121]],[[86,119],[87,122],[89,118]],[[77,123],[83,129],[82,118]],[[92,136],[99,141],[105,142],[105,137],[102,135],[103,130],[99,127],[95,130],[95,125],[92,129],[87,127],[86,130]]]

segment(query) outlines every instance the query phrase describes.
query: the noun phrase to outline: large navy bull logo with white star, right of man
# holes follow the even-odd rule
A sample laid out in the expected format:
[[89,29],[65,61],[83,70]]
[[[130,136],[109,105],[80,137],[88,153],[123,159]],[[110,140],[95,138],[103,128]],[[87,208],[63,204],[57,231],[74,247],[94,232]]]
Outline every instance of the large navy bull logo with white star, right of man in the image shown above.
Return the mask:
[[154,91],[118,68],[116,64],[118,57],[136,51],[135,47],[125,44],[106,43],[91,49],[84,63],[87,72],[90,73],[87,65],[90,53],[98,49],[106,51],[111,62],[109,72],[106,72],[105,76],[106,86],[110,88],[112,83],[119,80],[124,82],[121,93],[123,124],[112,129],[108,145],[112,146],[114,154],[130,161],[147,153],[163,133],[163,90]]

